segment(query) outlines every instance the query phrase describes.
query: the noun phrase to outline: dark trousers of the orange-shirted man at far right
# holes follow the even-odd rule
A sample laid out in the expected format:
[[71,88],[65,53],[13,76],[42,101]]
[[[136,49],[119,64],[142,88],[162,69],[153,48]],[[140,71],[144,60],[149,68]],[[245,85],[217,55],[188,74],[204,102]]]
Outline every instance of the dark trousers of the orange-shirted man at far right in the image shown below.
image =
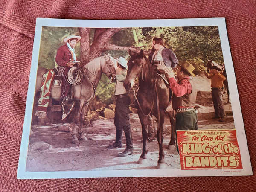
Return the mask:
[[223,91],[221,88],[212,88],[212,101],[214,106],[214,113],[216,117],[221,117],[221,119],[226,118],[226,113],[224,111]]

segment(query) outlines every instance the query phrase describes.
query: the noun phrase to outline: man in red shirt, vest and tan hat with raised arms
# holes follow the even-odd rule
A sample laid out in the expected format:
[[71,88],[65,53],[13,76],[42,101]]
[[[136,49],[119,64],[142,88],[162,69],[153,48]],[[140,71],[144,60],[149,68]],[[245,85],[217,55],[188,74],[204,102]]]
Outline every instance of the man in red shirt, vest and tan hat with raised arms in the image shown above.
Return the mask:
[[[176,112],[176,130],[196,130],[198,129],[198,116],[195,113],[195,99],[197,95],[197,88],[191,76],[195,77],[193,70],[195,67],[189,62],[183,62],[177,71],[176,81],[174,71],[171,67],[163,70],[157,68],[162,73],[165,73],[166,78],[169,79],[172,90],[172,107]],[[177,138],[177,137],[176,137]]]

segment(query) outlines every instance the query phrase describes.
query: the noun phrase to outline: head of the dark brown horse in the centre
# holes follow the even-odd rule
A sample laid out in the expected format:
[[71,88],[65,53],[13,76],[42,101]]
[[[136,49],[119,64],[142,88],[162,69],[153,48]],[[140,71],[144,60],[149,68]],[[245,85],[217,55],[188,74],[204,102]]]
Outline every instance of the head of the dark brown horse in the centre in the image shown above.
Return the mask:
[[[138,77],[144,80],[147,79],[150,63],[144,56],[143,50],[138,54],[137,52],[128,51],[131,58],[128,60],[127,76],[124,81],[124,87],[126,89],[132,89],[134,87],[134,81]],[[144,79],[143,79],[144,78]]]

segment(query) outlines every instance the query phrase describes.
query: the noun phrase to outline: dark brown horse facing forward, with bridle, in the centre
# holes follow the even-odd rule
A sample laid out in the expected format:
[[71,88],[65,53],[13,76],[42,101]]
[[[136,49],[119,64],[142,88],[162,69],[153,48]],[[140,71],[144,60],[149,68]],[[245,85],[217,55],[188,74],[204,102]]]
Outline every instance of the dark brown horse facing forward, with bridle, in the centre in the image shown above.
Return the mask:
[[[162,169],[165,165],[163,151],[163,123],[165,111],[171,100],[172,94],[163,79],[157,75],[148,59],[143,55],[143,50],[140,51],[140,54],[131,51],[129,51],[129,54],[131,55],[131,58],[128,61],[128,71],[124,81],[125,88],[133,88],[135,79],[137,77],[139,79],[137,102],[140,106],[138,115],[142,126],[143,150],[138,163],[143,163],[147,158],[147,119],[149,114],[153,114],[158,119],[157,141],[159,143],[159,160],[157,163],[157,169]],[[174,122],[171,112],[166,113],[168,113],[171,124],[173,125]],[[172,143],[172,145],[175,144],[174,126],[172,126],[172,137],[170,143]]]

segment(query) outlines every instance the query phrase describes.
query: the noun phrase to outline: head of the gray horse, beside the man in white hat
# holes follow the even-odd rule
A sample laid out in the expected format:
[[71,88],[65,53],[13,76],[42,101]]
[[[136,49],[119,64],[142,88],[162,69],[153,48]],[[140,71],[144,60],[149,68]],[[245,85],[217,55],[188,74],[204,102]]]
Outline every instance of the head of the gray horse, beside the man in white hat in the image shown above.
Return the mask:
[[106,76],[108,76],[108,79],[114,78],[116,76],[116,70],[115,70],[115,65],[116,65],[116,60],[111,57],[109,54],[106,55],[104,54],[105,58],[105,65],[102,66],[102,72],[105,73]]

